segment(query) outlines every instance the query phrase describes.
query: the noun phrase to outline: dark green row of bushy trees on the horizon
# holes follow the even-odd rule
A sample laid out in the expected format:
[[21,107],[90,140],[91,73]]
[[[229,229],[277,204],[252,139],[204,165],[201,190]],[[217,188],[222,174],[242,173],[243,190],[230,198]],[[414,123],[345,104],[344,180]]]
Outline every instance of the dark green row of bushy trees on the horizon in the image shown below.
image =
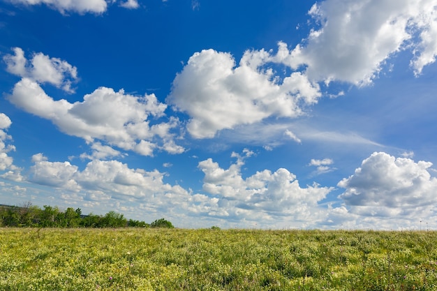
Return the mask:
[[61,211],[59,207],[44,205],[43,209],[31,203],[21,207],[0,205],[0,227],[168,227],[170,221],[164,218],[152,223],[127,219],[123,214],[109,211],[104,216],[83,215],[80,208],[68,207]]

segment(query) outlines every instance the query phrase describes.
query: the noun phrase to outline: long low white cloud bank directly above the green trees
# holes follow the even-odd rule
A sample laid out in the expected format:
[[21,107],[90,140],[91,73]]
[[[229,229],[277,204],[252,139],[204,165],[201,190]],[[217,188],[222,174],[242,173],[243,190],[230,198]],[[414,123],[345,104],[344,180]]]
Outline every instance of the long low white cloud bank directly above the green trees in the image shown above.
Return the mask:
[[57,195],[68,203],[76,202],[84,207],[96,209],[105,203],[134,211],[126,205],[135,202],[135,215],[138,209],[147,209],[142,219],[152,219],[158,212],[170,219],[202,215],[202,209],[216,203],[216,199],[211,200],[206,195],[165,183],[165,173],[132,169],[119,161],[93,160],[84,170],[69,162],[48,161],[43,154],[34,155],[32,161],[34,165],[27,181],[57,188]]

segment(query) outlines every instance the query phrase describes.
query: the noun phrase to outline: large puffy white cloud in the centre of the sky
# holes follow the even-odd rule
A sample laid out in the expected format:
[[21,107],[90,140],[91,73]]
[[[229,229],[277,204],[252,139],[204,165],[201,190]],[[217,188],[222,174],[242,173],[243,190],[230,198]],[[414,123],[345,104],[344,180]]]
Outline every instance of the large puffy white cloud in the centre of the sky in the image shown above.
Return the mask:
[[267,117],[297,117],[302,103],[317,102],[319,87],[297,72],[279,82],[263,69],[273,58],[264,50],[247,51],[236,66],[228,53],[197,52],[175,77],[168,103],[190,115],[188,132],[196,138]]

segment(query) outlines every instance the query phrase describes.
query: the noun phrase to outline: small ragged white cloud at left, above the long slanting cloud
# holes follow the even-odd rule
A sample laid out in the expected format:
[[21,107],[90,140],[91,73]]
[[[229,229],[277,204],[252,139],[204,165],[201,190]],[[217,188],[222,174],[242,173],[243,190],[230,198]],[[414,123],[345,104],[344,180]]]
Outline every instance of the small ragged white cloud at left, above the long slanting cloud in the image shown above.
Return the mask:
[[37,53],[28,61],[24,57],[24,51],[20,47],[14,47],[15,55],[6,54],[3,61],[6,62],[9,73],[20,77],[29,78],[38,83],[49,83],[73,93],[71,84],[77,80],[77,68],[66,61],[50,58],[45,54]]

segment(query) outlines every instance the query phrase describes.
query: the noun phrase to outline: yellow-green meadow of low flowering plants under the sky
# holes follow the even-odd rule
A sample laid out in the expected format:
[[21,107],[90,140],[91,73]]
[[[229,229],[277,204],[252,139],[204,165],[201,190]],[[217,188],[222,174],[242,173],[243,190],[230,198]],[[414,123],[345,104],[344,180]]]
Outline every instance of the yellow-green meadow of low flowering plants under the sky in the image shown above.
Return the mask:
[[437,290],[437,232],[5,227],[0,290]]

